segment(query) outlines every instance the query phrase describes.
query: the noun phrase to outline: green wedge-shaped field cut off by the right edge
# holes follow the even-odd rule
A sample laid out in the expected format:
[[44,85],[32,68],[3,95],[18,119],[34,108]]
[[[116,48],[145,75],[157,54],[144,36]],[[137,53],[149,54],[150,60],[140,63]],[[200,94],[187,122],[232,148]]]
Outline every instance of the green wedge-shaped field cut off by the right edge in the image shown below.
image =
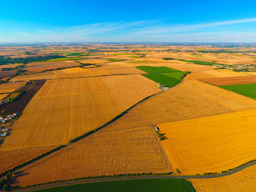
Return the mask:
[[222,85],[220,88],[225,88],[228,91],[233,91],[252,99],[256,99],[256,83],[243,85]]

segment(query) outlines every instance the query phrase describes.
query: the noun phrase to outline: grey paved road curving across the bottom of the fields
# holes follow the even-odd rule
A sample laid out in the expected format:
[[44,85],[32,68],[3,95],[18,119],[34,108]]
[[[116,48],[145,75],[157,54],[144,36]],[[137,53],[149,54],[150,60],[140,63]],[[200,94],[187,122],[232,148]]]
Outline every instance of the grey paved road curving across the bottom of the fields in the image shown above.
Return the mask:
[[75,184],[82,184],[82,183],[94,183],[94,182],[102,182],[102,181],[113,181],[113,180],[136,180],[136,179],[210,179],[210,178],[217,178],[217,177],[225,177],[230,174],[234,174],[236,172],[240,172],[243,169],[246,169],[249,166],[253,166],[256,164],[256,161],[252,161],[249,164],[239,167],[238,169],[234,169],[230,172],[225,172],[222,174],[211,174],[211,175],[142,175],[142,176],[127,176],[127,177],[108,177],[108,178],[99,178],[99,179],[89,179],[89,180],[75,180],[75,181],[68,181],[63,183],[53,183],[50,185],[42,185],[37,186],[34,188],[25,188],[15,191],[37,191],[40,189],[45,188],[53,188],[53,187],[60,187],[64,185],[75,185]]

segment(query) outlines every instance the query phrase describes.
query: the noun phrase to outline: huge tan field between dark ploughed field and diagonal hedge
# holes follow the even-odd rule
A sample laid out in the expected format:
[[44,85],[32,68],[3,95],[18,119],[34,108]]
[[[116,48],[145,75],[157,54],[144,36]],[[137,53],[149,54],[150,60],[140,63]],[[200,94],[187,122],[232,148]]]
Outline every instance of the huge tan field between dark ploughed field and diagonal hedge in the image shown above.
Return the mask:
[[12,134],[1,148],[69,142],[108,122],[129,105],[158,93],[156,85],[136,74],[48,80],[12,126]]

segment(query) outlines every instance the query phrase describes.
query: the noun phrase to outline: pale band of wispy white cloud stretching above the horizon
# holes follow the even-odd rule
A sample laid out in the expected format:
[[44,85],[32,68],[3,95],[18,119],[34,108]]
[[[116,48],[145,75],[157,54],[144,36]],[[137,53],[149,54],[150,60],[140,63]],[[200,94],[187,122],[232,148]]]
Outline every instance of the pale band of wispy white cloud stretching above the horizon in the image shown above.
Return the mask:
[[[229,25],[252,22],[256,22],[256,18],[190,25],[140,20],[92,23],[69,28],[17,28],[12,33],[0,30],[0,42],[256,42],[255,33],[226,29]],[[225,28],[214,31],[213,28],[218,26]],[[203,33],[205,29],[210,32]]]

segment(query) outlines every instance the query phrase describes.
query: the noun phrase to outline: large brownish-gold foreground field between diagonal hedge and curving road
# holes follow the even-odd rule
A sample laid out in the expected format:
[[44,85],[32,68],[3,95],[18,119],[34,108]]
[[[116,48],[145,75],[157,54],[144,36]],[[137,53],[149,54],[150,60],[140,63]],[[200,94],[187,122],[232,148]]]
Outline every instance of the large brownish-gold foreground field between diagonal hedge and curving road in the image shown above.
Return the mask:
[[[151,127],[102,129],[35,164],[19,170],[14,185],[26,186],[76,177],[170,172]],[[19,176],[19,174],[17,174]]]

